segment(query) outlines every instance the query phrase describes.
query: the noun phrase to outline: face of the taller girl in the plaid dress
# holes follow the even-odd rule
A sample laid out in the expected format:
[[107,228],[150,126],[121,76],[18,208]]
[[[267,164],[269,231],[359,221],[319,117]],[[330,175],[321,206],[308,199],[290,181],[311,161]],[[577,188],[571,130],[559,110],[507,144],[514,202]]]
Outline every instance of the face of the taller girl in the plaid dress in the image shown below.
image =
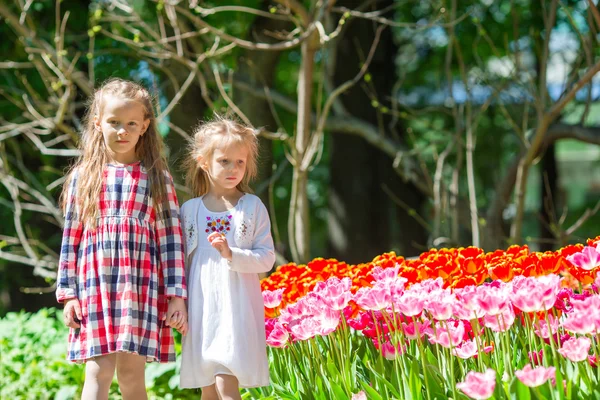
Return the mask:
[[112,95],[105,96],[103,103],[101,118],[95,117],[94,124],[102,132],[110,156],[122,164],[138,161],[135,146],[150,125],[144,118],[144,106]]

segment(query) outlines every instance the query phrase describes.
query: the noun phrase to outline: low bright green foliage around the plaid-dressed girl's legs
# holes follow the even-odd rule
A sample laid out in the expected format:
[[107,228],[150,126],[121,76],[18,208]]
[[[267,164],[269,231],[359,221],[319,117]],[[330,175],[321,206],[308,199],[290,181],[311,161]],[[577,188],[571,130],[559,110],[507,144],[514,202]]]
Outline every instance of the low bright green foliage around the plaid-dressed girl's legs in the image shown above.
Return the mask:
[[[78,399],[85,366],[66,360],[68,328],[62,311],[42,309],[31,313],[8,313],[0,319],[0,398]],[[176,336],[179,351],[180,336]],[[180,390],[179,362],[150,363],[146,386],[151,399],[197,399],[194,390]],[[120,399],[116,378],[111,399]]]

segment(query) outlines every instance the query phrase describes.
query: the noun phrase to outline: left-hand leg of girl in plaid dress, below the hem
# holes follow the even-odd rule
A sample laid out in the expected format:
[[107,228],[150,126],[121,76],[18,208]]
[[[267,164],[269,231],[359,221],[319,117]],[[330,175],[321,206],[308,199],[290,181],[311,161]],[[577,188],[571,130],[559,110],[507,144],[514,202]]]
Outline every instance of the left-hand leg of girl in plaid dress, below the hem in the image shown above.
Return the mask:
[[110,384],[115,376],[115,354],[95,357],[85,363],[82,400],[108,400]]

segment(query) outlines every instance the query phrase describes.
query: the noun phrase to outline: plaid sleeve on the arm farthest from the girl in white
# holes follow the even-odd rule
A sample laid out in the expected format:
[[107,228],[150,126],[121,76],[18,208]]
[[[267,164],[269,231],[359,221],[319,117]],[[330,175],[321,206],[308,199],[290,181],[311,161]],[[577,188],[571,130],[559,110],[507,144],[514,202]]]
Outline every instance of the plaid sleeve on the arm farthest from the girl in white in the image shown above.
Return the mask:
[[77,254],[83,235],[83,225],[77,215],[75,191],[77,176],[74,175],[67,192],[65,210],[65,225],[63,229],[60,258],[58,262],[58,280],[56,282],[56,299],[62,303],[65,300],[77,298]]

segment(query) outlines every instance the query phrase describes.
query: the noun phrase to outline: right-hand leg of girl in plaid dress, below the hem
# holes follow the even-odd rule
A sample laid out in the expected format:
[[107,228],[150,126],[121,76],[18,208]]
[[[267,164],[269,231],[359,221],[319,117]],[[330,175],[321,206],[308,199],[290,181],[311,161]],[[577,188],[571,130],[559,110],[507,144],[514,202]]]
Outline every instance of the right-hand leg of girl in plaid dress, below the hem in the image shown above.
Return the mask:
[[117,354],[117,380],[123,400],[146,400],[146,356]]

